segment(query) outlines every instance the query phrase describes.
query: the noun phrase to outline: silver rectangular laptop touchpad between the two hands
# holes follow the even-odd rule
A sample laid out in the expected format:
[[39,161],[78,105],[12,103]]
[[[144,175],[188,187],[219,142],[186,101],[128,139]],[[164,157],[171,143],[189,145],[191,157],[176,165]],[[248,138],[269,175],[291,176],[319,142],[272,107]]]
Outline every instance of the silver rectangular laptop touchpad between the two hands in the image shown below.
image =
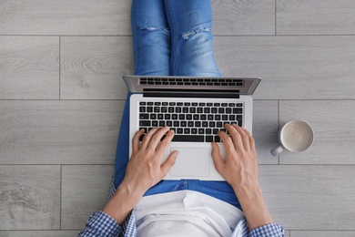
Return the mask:
[[177,160],[170,170],[172,177],[208,177],[210,173],[210,149],[171,148],[178,150]]

